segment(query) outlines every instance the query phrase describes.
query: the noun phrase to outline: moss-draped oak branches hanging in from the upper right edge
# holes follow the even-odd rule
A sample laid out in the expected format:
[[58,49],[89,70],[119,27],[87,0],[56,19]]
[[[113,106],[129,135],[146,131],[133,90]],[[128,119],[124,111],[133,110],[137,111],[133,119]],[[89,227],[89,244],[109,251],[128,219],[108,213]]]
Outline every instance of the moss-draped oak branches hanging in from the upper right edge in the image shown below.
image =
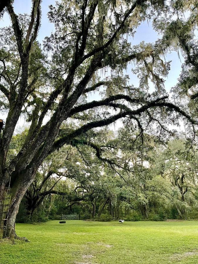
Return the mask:
[[[173,99],[180,99],[181,103],[188,107],[192,116],[197,119],[197,84],[198,84],[198,45],[196,30],[198,23],[197,1],[175,1],[179,12],[190,13],[187,19],[178,16],[177,20],[167,20],[159,23],[158,31],[165,38],[170,34],[174,35],[175,45],[180,48],[184,57],[182,70],[178,83],[172,88]],[[163,20],[163,18],[160,18]],[[169,38],[169,37],[168,37]]]

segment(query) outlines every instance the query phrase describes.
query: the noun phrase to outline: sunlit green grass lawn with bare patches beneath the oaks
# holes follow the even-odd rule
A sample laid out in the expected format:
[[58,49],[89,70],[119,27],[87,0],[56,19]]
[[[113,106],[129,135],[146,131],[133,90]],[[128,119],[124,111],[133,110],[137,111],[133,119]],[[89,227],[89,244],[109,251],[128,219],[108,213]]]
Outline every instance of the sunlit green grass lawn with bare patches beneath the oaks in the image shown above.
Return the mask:
[[30,243],[0,243],[0,263],[198,263],[198,221],[16,224]]

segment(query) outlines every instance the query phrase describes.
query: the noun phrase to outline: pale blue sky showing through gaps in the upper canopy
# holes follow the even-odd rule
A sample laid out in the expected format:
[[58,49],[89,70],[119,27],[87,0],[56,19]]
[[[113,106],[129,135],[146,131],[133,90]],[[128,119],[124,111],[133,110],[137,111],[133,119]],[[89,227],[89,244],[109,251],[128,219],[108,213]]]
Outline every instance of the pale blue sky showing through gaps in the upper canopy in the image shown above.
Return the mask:
[[[59,0],[61,1],[61,0]],[[15,0],[14,1],[14,10],[16,13],[30,13],[31,12],[31,0]],[[48,6],[50,4],[55,4],[55,0],[43,0],[42,1],[42,20],[41,27],[38,34],[38,40],[42,43],[45,36],[49,36],[51,32],[54,31],[54,26],[52,23],[48,21],[47,12],[49,11]],[[4,14],[3,18],[0,20],[0,27],[8,26],[10,24],[10,18],[7,13]],[[145,42],[155,42],[160,36],[152,29],[150,23],[147,21],[141,23],[141,25],[137,28],[137,32],[135,34],[134,39],[131,39],[132,45],[137,45],[141,41]],[[182,59],[182,56],[181,56]],[[177,78],[179,77],[181,70],[181,62],[178,58],[177,52],[172,52],[171,54],[167,54],[166,61],[172,60],[171,62],[171,70],[169,72],[168,78],[165,82],[165,88],[167,92],[170,90],[172,86],[177,83]],[[138,79],[136,75],[131,73],[131,65],[128,65],[127,74],[130,75],[131,80],[130,83],[133,83],[135,86],[138,86]],[[92,95],[94,97],[94,95]],[[95,94],[97,97],[97,93]]]

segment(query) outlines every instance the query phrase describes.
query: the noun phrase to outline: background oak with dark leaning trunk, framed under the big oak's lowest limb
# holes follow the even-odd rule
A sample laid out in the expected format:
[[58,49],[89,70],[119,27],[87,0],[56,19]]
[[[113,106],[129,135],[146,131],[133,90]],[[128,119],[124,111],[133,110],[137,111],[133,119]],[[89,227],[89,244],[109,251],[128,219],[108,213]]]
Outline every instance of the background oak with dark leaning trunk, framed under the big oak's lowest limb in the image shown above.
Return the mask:
[[[29,216],[51,194],[64,196],[61,199],[67,203],[62,203],[63,209],[72,208],[75,204],[83,206],[85,202],[93,202],[98,195],[96,183],[101,176],[100,161],[94,150],[88,148],[83,151],[81,148],[82,146],[63,146],[43,161],[24,196]],[[105,188],[101,185],[100,189],[104,191]]]

